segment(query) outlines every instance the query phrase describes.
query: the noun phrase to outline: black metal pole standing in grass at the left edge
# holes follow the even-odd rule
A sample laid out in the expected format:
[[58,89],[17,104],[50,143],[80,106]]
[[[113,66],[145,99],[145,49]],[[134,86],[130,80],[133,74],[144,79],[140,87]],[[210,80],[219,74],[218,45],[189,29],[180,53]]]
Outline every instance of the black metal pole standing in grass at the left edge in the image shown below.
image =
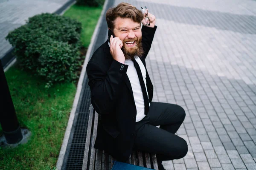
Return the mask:
[[23,138],[12,97],[0,59],[0,124],[8,144],[20,142]]

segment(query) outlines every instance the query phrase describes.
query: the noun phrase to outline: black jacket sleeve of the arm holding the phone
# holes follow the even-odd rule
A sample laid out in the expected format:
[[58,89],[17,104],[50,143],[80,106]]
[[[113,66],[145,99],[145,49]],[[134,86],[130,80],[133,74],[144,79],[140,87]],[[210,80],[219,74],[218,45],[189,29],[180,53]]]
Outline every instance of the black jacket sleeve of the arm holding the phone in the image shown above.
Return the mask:
[[99,114],[111,113],[128,65],[113,60],[108,71],[103,70],[96,62],[89,62],[87,75],[91,90],[93,108]]

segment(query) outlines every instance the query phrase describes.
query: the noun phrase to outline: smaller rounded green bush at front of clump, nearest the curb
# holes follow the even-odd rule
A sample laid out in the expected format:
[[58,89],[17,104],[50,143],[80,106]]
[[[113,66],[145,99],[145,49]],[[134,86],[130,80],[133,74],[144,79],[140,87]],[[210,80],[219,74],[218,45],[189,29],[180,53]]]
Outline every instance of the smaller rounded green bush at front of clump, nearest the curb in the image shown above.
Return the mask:
[[78,78],[74,73],[79,67],[79,51],[67,42],[54,41],[44,45],[38,61],[40,65],[37,73],[49,80],[46,87],[51,86],[52,82],[72,81]]

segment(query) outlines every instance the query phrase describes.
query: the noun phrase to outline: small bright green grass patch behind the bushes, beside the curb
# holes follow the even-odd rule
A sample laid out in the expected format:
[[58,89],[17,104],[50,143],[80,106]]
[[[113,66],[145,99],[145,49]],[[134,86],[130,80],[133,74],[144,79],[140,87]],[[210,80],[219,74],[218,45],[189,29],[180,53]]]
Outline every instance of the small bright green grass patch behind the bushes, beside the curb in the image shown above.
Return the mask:
[[97,25],[102,7],[72,6],[64,16],[76,19],[82,23],[81,41],[84,47],[88,47],[93,31]]

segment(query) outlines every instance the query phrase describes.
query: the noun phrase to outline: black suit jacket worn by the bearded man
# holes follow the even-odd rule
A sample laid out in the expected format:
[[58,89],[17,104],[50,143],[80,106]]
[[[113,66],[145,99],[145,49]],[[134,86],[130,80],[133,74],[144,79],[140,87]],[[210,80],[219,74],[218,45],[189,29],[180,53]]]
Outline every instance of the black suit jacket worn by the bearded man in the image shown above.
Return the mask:
[[[144,65],[156,28],[142,28]],[[137,114],[127,69],[128,65],[113,59],[108,41],[94,52],[87,65],[91,102],[101,115],[94,147],[105,150],[119,161],[126,161],[132,152]],[[151,102],[153,85],[147,69],[146,85]]]

